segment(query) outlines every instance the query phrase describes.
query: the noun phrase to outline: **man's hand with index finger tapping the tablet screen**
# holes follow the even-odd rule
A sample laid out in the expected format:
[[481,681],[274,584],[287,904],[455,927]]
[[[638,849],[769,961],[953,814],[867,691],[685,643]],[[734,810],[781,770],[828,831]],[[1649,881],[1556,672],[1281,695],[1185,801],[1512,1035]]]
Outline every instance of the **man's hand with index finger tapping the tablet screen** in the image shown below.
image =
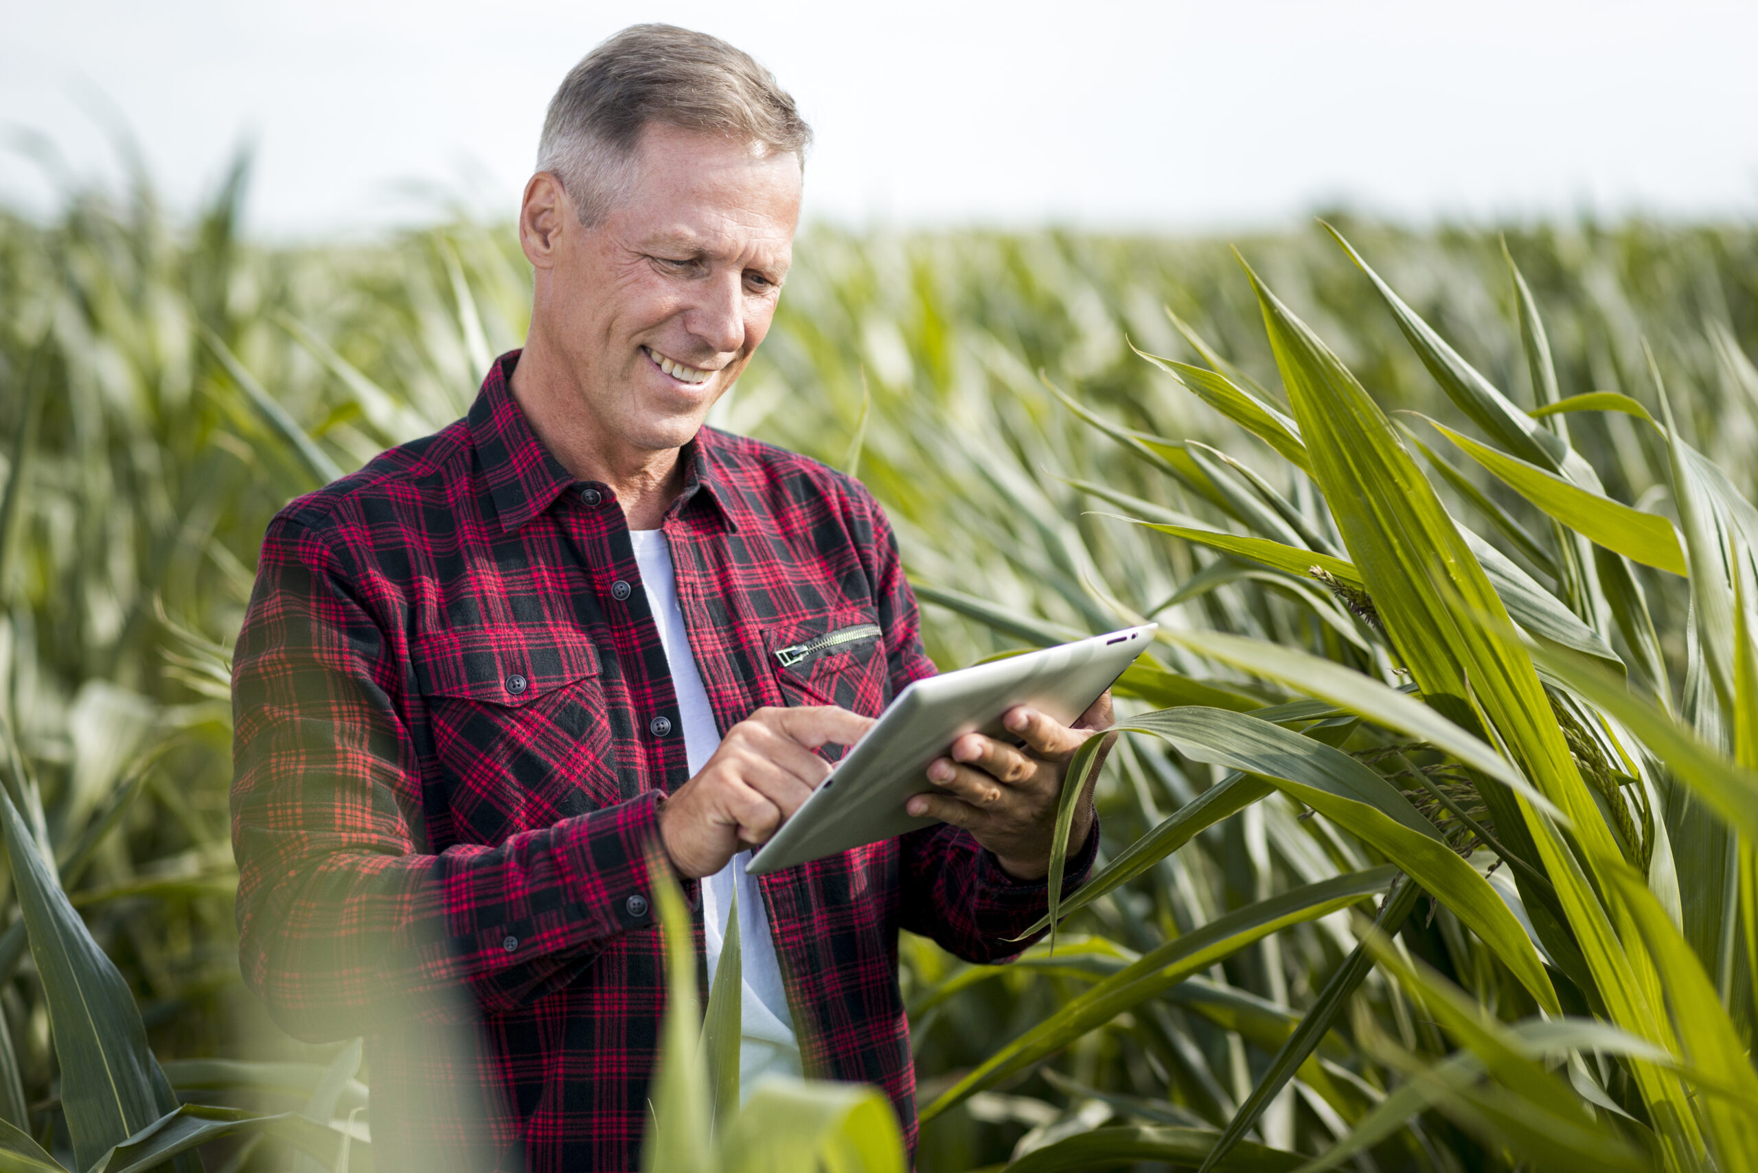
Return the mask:
[[854,745],[874,718],[830,704],[758,709],[659,808],[659,839],[679,874],[712,876],[747,846],[768,843],[782,820],[830,776],[814,750]]

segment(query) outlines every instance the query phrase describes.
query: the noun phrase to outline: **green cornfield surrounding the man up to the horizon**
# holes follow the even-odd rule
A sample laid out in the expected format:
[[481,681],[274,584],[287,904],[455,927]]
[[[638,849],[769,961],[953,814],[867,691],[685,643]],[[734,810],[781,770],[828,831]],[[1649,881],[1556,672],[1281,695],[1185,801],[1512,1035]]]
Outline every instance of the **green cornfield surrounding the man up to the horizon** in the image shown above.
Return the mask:
[[[250,242],[246,174],[0,214],[4,1168],[371,1162],[359,1045],[239,980],[229,646],[529,277]],[[904,943],[918,1164],[1758,1168],[1758,230],[1327,219],[810,228],[716,409],[877,493],[942,667],[1160,623],[1055,936]],[[902,1166],[856,1089],[738,1112],[687,971],[650,1168]]]

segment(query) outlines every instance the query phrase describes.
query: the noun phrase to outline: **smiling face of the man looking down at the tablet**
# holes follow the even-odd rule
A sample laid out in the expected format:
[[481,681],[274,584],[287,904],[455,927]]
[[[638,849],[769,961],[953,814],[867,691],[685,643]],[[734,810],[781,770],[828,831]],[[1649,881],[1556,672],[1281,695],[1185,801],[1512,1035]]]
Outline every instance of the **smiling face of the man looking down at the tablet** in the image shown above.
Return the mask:
[[656,123],[633,183],[596,225],[582,228],[564,195],[556,214],[550,263],[533,256],[533,332],[563,360],[578,423],[622,451],[686,444],[775,316],[800,219],[798,156],[758,158]]

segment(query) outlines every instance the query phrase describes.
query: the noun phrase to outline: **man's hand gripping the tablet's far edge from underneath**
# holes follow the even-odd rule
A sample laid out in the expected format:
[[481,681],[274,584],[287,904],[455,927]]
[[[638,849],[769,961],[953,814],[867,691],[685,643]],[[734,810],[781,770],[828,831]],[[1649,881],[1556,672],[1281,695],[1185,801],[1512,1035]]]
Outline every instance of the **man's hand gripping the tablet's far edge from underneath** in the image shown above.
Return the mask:
[[[1111,694],[1093,701],[1072,725],[1060,725],[1034,708],[1016,706],[1002,716],[1002,725],[1023,745],[1013,746],[983,734],[963,734],[948,757],[928,764],[928,781],[939,790],[918,794],[905,810],[963,827],[995,853],[1002,869],[1018,880],[1042,880],[1050,873],[1050,845],[1057,831],[1057,801],[1069,759],[1093,736],[1111,727]],[[1116,734],[1106,734],[1099,766]],[[1079,850],[1093,825],[1093,783],[1074,806],[1069,827],[1069,852]]]

